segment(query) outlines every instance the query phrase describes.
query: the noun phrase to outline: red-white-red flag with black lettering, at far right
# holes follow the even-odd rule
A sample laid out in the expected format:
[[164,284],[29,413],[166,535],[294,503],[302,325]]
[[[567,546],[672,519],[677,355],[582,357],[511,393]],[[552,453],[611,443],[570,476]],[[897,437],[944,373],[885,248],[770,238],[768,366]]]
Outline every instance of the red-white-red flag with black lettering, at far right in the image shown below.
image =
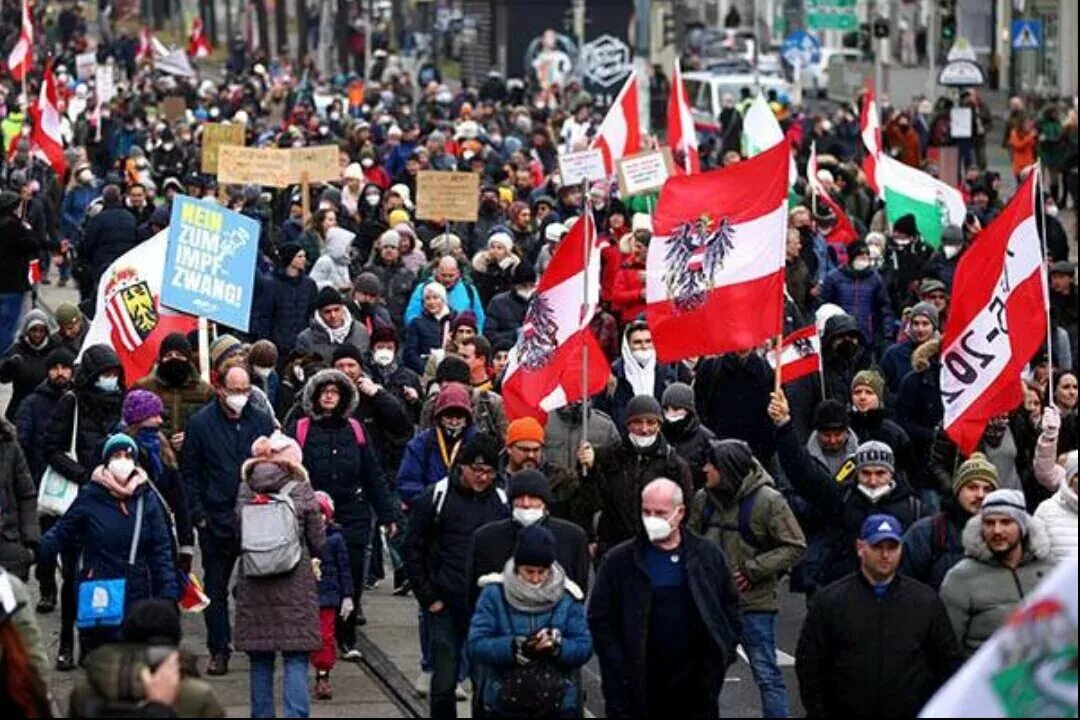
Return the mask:
[[942,339],[945,432],[971,454],[995,416],[1024,399],[1021,371],[1047,337],[1047,271],[1031,173],[956,269]]

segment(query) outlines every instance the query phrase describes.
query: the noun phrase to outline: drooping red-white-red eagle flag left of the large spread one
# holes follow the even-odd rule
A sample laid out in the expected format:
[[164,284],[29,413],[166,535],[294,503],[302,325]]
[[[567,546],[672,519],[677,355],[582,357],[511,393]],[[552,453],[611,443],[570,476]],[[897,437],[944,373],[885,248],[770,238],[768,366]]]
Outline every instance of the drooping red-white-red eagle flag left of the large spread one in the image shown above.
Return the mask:
[[[589,329],[599,303],[600,254],[596,240],[592,214],[586,212],[559,243],[540,276],[502,381],[502,397],[511,419],[529,416],[543,422],[552,410],[595,395],[607,384],[611,368]],[[586,349],[589,381],[582,392]]]

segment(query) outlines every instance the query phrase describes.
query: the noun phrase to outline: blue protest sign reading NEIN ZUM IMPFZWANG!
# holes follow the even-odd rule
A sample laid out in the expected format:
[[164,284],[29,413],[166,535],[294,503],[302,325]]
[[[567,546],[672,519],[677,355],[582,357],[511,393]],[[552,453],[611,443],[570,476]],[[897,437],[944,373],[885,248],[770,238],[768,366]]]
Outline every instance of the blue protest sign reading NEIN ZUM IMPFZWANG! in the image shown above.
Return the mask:
[[220,205],[173,199],[161,301],[247,331],[259,223]]

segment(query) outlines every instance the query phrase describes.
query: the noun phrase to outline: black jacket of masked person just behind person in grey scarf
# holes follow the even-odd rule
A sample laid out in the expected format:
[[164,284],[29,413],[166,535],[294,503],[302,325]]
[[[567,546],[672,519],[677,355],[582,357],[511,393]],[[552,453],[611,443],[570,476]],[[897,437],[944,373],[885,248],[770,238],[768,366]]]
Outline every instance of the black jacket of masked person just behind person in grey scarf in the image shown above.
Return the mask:
[[[588,587],[591,563],[589,540],[584,530],[573,522],[551,515],[545,516],[538,525],[550,530],[555,536],[555,561],[566,571],[567,580],[576,583],[578,587]],[[476,607],[476,600],[483,590],[481,580],[490,573],[502,572],[507,560],[514,557],[517,533],[521,529],[522,526],[513,517],[509,517],[488,522],[473,533],[467,573],[470,608]]]

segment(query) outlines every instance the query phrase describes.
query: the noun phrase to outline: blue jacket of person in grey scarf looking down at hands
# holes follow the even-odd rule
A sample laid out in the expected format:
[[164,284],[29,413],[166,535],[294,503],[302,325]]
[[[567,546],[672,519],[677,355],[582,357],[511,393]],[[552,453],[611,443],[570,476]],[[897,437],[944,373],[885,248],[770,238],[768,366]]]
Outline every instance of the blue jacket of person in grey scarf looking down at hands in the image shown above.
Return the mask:
[[[585,621],[584,595],[567,581],[562,599],[550,611],[527,613],[513,608],[502,592],[502,574],[481,580],[487,583],[480,594],[476,611],[469,628],[469,658],[477,665],[483,678],[481,697],[494,716],[499,714],[499,692],[503,675],[516,666],[514,638],[529,637],[546,627],[563,634],[563,649],[554,658],[555,666],[566,675],[563,712],[577,712],[581,705],[580,678],[573,670],[589,662],[593,654],[593,637]],[[563,715],[562,717],[569,717]]]

